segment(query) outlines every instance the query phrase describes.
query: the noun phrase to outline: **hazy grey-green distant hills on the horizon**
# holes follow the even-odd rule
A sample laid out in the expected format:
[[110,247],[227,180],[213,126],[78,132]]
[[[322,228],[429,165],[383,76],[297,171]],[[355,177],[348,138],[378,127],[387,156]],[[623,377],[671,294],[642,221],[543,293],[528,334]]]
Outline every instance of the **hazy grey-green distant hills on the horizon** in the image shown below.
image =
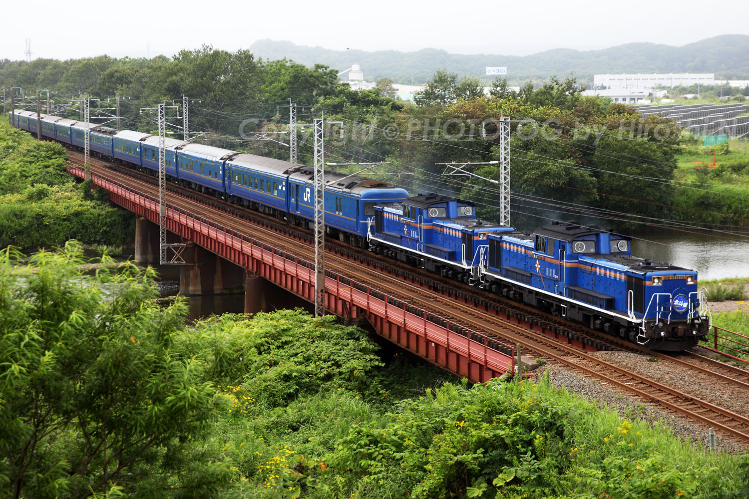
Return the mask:
[[464,55],[445,50],[417,52],[381,50],[329,50],[320,46],[299,46],[288,41],[258,40],[250,46],[258,57],[288,58],[307,66],[320,63],[337,70],[362,65],[365,79],[388,76],[401,83],[423,83],[437,68],[446,67],[460,75],[484,76],[486,66],[507,66],[511,82],[545,79],[556,74],[590,80],[595,73],[715,73],[726,79],[749,76],[749,35],[724,34],[685,46],[658,43],[626,43],[602,50],[552,49],[533,55]]

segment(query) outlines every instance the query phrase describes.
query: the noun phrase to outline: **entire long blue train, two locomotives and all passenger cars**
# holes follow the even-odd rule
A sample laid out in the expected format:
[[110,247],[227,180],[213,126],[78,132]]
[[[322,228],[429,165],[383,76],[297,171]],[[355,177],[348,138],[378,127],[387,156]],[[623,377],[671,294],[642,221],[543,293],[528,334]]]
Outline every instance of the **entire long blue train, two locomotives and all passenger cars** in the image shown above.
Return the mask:
[[[11,111],[32,133],[37,116]],[[83,147],[85,123],[44,115],[42,135]],[[91,125],[94,154],[154,173],[158,137]],[[311,228],[314,171],[306,165],[166,139],[170,181]],[[473,203],[412,198],[356,175],[325,174],[326,233],[448,278],[522,301],[653,349],[691,348],[709,330],[697,272],[631,255],[631,239],[551,224],[518,232],[476,218]]]

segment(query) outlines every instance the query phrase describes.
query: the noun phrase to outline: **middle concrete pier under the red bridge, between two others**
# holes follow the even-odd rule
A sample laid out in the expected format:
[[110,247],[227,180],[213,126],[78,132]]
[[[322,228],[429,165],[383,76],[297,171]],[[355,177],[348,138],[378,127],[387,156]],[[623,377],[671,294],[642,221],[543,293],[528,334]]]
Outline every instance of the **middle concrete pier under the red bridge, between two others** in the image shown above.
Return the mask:
[[188,264],[180,268],[181,295],[220,295],[242,290],[245,272],[240,266],[201,246],[186,248],[184,260]]

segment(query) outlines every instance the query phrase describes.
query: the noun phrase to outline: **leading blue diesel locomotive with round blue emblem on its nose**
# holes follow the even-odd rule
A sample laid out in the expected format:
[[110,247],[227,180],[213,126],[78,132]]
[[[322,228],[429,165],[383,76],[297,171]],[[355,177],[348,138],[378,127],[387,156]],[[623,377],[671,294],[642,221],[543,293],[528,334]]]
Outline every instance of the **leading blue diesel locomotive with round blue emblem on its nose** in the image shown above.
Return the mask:
[[685,349],[705,336],[697,272],[631,255],[631,239],[551,224],[489,236],[485,287],[637,343]]

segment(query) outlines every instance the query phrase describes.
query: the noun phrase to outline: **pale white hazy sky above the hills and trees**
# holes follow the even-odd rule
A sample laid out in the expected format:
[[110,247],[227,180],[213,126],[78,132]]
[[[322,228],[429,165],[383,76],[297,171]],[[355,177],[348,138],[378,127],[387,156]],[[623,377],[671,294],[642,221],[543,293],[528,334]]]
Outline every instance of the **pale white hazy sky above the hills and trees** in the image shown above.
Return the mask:
[[[680,46],[718,34],[749,34],[747,0],[37,0],[16,6],[13,21],[0,30],[0,59],[24,58],[27,37],[32,58],[79,58],[171,56],[203,43],[234,51],[262,38],[339,50],[433,47],[527,55],[630,42]],[[31,17],[35,25],[23,20]]]

